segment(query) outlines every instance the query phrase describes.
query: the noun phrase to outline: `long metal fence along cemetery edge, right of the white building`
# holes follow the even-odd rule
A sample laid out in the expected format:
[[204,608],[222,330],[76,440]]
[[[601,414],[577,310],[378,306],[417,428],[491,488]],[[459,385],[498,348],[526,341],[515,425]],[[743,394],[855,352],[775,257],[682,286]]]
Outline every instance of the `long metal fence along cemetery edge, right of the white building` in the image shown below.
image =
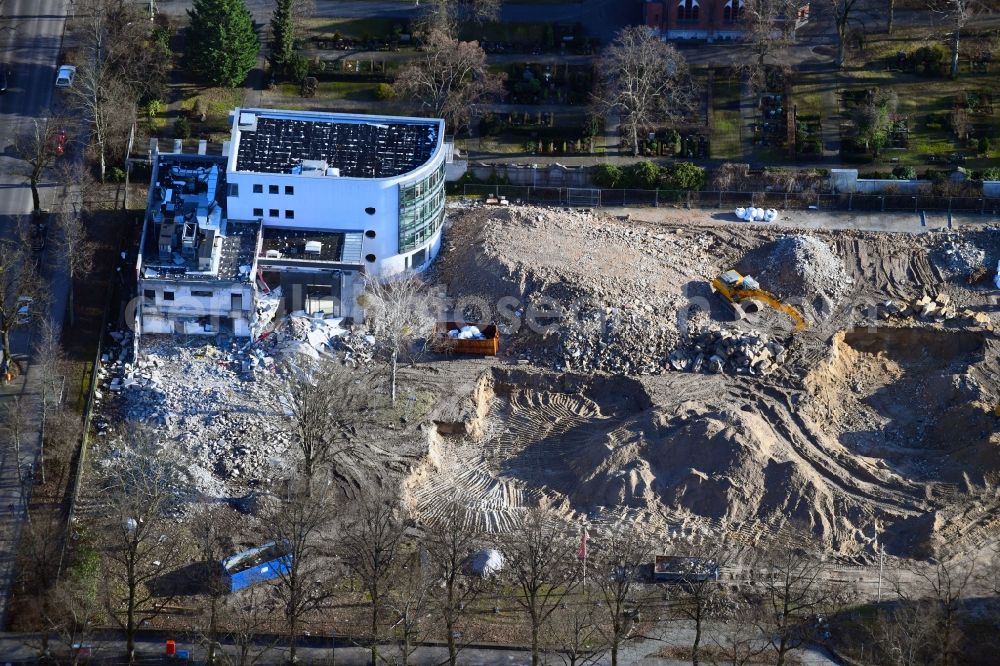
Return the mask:
[[545,206],[630,207],[682,206],[722,208],[740,206],[779,210],[817,209],[868,212],[947,211],[997,215],[1000,198],[950,197],[933,194],[815,194],[812,192],[686,192],[681,190],[626,190],[525,185],[463,185],[468,199],[506,197],[511,203]]

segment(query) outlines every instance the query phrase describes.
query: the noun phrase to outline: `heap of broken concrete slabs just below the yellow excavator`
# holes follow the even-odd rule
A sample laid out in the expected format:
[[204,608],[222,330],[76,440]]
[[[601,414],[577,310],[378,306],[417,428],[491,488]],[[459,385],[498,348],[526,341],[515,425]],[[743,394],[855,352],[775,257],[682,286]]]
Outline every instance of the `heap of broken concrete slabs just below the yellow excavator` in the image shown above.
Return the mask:
[[785,347],[759,331],[709,325],[692,333],[684,348],[670,354],[670,367],[681,372],[729,372],[769,375],[784,363]]

